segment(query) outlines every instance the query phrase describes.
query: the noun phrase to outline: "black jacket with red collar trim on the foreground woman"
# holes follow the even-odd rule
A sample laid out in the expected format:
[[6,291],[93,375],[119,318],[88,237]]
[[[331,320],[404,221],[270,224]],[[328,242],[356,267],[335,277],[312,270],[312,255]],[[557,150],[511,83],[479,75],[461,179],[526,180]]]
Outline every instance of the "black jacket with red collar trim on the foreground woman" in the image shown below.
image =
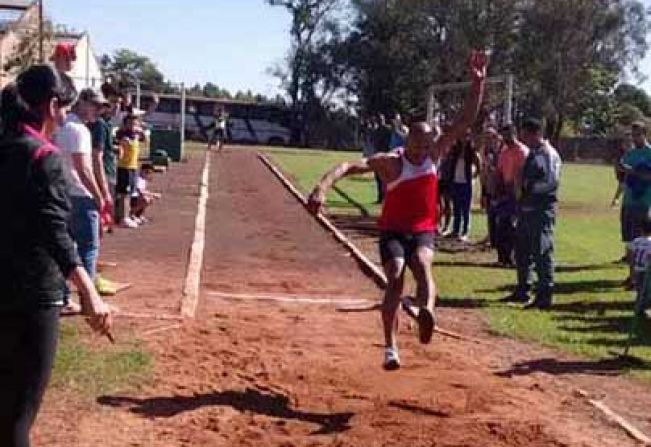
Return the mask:
[[56,148],[28,128],[0,136],[0,209],[0,312],[61,305],[80,265],[67,174]]

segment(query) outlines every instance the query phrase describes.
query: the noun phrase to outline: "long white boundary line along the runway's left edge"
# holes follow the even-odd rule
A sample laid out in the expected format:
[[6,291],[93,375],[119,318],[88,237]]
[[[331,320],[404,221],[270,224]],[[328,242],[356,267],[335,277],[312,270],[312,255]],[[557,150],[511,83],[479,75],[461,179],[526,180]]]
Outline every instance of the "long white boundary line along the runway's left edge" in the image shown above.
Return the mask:
[[203,174],[199,184],[199,204],[194,222],[194,239],[190,248],[188,269],[183,283],[183,297],[181,299],[181,315],[188,318],[194,318],[199,304],[201,266],[206,242],[206,207],[208,204],[208,187],[210,185],[210,159],[211,151],[206,150]]

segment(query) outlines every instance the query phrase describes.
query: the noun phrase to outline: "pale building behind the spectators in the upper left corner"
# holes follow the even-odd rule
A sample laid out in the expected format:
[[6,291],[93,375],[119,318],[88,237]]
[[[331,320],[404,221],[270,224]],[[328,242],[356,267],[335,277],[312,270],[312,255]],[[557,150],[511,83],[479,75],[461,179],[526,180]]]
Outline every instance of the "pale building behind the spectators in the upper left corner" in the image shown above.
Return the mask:
[[[8,69],[8,63],[16,57],[24,36],[37,33],[39,28],[39,2],[36,0],[0,0],[0,88],[13,81],[16,70]],[[75,48],[77,60],[73,64],[70,77],[75,87],[99,88],[102,84],[102,71],[91,46],[87,32],[70,32],[56,27],[54,39],[44,42],[46,61],[57,43],[69,43]],[[34,48],[37,57],[38,48]]]

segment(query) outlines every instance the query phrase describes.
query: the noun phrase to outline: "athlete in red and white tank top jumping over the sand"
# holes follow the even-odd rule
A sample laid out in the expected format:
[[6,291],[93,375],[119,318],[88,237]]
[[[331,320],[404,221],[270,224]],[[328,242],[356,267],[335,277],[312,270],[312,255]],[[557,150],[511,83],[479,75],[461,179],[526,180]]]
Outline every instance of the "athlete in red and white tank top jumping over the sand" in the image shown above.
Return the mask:
[[309,197],[308,209],[316,214],[325,202],[328,189],[343,177],[373,172],[386,185],[387,194],[379,220],[380,257],[388,281],[381,307],[386,370],[400,368],[396,326],[405,266],[409,266],[416,280],[416,299],[402,300],[403,308],[417,321],[421,343],[429,343],[432,339],[436,295],[432,259],[438,226],[436,166],[474,122],[483,97],[486,67],[486,55],[473,52],[470,57],[472,88],[464,109],[452,127],[436,141],[429,124],[416,122],[409,129],[404,148],[336,166],[321,179]]

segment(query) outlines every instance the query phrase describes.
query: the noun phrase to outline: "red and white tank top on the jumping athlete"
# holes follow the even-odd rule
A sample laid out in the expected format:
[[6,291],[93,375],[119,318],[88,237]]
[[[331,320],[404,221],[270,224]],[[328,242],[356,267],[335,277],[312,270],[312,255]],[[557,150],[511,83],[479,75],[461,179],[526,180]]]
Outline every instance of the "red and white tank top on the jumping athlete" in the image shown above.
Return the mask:
[[384,205],[378,226],[382,231],[422,233],[438,226],[438,175],[436,165],[427,157],[414,165],[400,151],[400,176],[386,185]]

